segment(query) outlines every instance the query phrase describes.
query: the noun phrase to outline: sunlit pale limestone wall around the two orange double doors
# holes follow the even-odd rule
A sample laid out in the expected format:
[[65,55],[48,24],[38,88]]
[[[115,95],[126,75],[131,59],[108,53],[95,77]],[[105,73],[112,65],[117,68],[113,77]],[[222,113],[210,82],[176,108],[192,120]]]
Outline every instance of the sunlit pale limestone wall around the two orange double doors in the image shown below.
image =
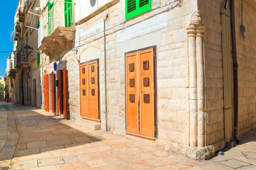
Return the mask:
[[[157,45],[157,144],[166,150],[183,152],[189,146],[191,107],[186,26],[197,10],[197,1],[183,1],[181,7],[175,6],[167,12],[160,8],[163,6],[164,1],[154,0],[153,10],[128,21],[124,18],[123,0],[107,9],[110,17],[106,31],[108,131],[119,135],[125,132],[125,52]],[[99,58],[102,130],[105,130],[104,14],[105,11],[76,26],[75,44],[81,51],[80,62]],[[86,56],[90,48],[96,48],[101,55]],[[73,75],[79,75],[78,68],[73,71]],[[81,119],[78,108],[71,110],[79,107],[78,76],[72,89],[69,89],[70,116]],[[72,101],[74,98],[76,102]]]

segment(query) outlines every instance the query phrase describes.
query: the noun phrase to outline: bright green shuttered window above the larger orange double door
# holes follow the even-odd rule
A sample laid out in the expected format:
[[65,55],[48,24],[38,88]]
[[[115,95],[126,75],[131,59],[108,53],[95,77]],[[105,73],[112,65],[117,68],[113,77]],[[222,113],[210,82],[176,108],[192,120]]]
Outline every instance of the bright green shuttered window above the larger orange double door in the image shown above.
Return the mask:
[[129,20],[151,10],[151,2],[152,0],[125,0],[125,19]]

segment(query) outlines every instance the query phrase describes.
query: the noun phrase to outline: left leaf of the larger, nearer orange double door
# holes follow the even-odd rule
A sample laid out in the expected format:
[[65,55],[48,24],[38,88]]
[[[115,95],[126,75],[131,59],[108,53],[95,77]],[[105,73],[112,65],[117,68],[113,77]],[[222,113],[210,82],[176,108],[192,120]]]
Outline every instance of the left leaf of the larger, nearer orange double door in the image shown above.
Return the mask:
[[126,131],[139,133],[138,53],[125,56]]

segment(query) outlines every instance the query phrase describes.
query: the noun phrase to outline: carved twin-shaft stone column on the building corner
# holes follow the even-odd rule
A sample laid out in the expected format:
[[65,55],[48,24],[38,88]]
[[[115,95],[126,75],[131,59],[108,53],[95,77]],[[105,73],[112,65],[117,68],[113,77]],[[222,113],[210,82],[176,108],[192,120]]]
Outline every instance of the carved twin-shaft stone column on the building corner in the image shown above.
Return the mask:
[[188,156],[194,159],[207,157],[205,148],[204,120],[204,21],[200,12],[192,14],[188,33],[189,88],[190,88],[190,133]]

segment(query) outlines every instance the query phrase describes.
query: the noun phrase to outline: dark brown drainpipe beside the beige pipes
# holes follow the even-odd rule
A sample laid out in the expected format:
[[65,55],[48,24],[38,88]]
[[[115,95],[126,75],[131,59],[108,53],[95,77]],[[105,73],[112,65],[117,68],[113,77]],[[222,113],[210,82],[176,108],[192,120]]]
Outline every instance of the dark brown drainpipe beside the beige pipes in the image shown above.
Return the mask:
[[231,23],[231,43],[233,59],[233,94],[234,94],[234,137],[236,143],[239,143],[238,129],[238,64],[236,56],[236,28],[235,28],[235,2],[230,0],[230,23]]

